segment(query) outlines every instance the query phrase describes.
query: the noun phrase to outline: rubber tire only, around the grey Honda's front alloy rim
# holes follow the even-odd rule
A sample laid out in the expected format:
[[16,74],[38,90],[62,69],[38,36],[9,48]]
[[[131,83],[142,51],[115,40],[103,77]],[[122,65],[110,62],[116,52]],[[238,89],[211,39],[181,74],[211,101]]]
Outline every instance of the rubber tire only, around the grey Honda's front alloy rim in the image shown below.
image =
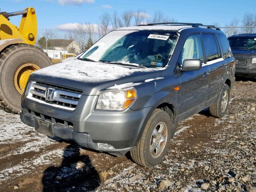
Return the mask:
[[[162,145],[162,152],[158,155],[152,156],[151,153],[155,153],[156,150],[150,152],[150,144],[152,143],[153,138],[153,130],[158,127],[159,123],[164,123],[166,125],[167,133],[166,134],[166,142],[165,145]],[[145,129],[142,133],[142,137],[138,142],[136,148],[130,152],[132,159],[137,164],[144,166],[144,167],[152,167],[156,164],[159,164],[164,156],[166,155],[170,139],[173,137],[175,132],[175,126],[171,121],[171,118],[167,112],[164,110],[156,109],[152,113],[151,117],[149,118]],[[164,136],[164,132],[163,132]],[[151,144],[153,146],[153,144]],[[154,147],[152,147],[154,148]]]

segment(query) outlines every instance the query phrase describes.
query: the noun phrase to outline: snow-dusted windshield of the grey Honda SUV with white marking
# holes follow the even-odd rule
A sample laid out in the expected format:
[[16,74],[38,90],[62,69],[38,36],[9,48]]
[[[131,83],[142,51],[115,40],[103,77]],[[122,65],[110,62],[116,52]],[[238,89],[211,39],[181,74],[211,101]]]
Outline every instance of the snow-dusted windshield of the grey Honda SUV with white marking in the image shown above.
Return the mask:
[[101,38],[80,59],[161,68],[168,63],[177,40],[176,32],[117,30]]

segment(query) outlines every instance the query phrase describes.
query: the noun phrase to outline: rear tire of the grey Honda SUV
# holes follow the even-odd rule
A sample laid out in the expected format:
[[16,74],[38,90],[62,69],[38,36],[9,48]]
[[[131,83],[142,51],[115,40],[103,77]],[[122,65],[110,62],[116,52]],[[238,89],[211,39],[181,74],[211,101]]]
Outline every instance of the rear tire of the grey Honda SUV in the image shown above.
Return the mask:
[[[222,101],[224,101],[224,96],[226,93],[226,103],[224,106],[222,106]],[[220,98],[218,98],[217,102],[209,106],[210,114],[217,118],[222,118],[226,114],[228,110],[228,104],[230,99],[230,88],[227,84],[224,84],[221,90]]]

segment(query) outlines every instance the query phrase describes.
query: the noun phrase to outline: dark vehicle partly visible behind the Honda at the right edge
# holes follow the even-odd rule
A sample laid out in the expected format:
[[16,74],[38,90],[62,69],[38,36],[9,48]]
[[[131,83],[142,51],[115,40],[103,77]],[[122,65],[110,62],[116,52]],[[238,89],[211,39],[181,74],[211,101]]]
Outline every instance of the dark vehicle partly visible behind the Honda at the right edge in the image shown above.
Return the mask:
[[256,34],[237,34],[228,38],[236,58],[236,76],[256,77]]

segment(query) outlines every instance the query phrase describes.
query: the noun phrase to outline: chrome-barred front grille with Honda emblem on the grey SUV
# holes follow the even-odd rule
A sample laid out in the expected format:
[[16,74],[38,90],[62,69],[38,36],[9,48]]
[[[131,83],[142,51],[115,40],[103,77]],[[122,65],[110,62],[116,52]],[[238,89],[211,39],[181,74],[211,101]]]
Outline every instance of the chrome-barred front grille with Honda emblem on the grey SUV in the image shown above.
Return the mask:
[[75,110],[82,95],[81,90],[44,82],[31,81],[28,89],[27,98],[67,110]]

